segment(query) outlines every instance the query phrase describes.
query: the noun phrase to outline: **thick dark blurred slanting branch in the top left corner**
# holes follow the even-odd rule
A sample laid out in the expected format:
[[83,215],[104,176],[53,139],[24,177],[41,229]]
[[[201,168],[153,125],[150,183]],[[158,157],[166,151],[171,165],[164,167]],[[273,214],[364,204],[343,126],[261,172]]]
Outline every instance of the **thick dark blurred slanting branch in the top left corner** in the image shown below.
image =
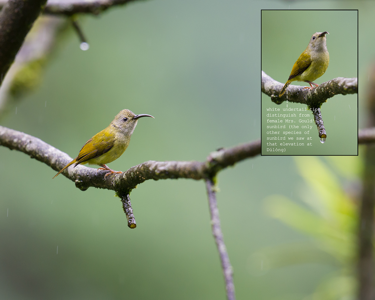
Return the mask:
[[0,84],[46,0],[9,0],[0,12]]

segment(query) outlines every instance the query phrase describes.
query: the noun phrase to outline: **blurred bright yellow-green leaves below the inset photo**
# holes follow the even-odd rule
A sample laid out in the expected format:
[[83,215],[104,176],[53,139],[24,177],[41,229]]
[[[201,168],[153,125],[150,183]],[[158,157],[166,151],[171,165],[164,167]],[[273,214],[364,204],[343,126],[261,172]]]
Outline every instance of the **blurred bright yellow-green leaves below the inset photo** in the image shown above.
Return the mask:
[[[357,207],[344,191],[338,176],[357,180],[361,166],[358,157],[345,159],[331,158],[331,165],[335,168],[332,170],[318,157],[295,157],[297,169],[308,186],[301,192],[302,201],[308,207],[282,195],[265,199],[266,210],[272,217],[313,237],[315,242],[312,247],[326,252],[339,262],[339,271],[332,273],[314,294],[304,300],[354,299]],[[272,261],[275,260],[272,257],[279,257],[278,260],[285,264],[309,262],[309,256],[304,255],[306,249],[294,250],[294,255],[285,251],[275,255],[268,251],[268,259]],[[266,250],[263,252],[267,253]]]

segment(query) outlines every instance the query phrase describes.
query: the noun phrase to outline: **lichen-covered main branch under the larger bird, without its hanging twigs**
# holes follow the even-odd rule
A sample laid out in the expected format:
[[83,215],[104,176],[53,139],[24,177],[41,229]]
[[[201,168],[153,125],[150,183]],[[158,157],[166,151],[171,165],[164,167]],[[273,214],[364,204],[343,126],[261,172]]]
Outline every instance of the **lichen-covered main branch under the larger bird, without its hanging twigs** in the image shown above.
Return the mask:
[[[12,150],[22,151],[30,157],[50,166],[55,171],[60,171],[72,160],[68,154],[52,147],[39,138],[3,126],[0,126],[0,145]],[[123,174],[112,174],[105,180],[103,176],[104,171],[97,172],[96,169],[83,165],[78,165],[75,168],[71,166],[62,174],[74,181],[76,186],[81,190],[86,190],[92,186],[122,193],[133,189],[137,184],[149,179],[191,178],[200,180],[209,178],[221,169],[234,165],[234,163],[248,157],[256,156],[260,152],[261,142],[257,140],[233,148],[214,151],[208,156],[205,162],[158,162],[149,160],[133,166]]]

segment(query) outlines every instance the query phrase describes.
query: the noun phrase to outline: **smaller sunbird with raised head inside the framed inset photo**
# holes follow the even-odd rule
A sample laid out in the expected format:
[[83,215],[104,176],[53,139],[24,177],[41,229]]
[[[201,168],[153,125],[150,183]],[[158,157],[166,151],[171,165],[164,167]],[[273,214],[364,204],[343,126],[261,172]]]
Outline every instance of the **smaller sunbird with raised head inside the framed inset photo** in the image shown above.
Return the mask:
[[[297,62],[294,63],[292,72],[282,88],[279,97],[284,95],[285,90],[292,81],[305,81],[310,84],[312,88],[313,84],[319,86],[319,84],[313,83],[312,81],[321,77],[328,68],[329,64],[329,53],[327,50],[327,37],[328,32],[315,32],[307,46],[306,50],[302,52]],[[329,34],[329,33],[328,33]],[[308,89],[308,87],[305,87]]]

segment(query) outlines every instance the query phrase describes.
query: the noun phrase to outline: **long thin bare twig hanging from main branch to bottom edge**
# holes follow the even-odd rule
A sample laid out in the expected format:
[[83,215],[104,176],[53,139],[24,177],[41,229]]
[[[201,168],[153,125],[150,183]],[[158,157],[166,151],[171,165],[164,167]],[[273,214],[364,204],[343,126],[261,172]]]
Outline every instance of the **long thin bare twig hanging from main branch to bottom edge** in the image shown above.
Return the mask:
[[215,239],[217,251],[219,251],[221,267],[224,273],[226,297],[228,300],[235,300],[236,294],[234,292],[233,284],[233,268],[229,261],[228,252],[226,251],[223,234],[220,226],[219,209],[217,208],[215,184],[212,178],[205,180],[207,195],[208,195],[208,206],[210,208],[211,215],[211,227],[212,234]]

